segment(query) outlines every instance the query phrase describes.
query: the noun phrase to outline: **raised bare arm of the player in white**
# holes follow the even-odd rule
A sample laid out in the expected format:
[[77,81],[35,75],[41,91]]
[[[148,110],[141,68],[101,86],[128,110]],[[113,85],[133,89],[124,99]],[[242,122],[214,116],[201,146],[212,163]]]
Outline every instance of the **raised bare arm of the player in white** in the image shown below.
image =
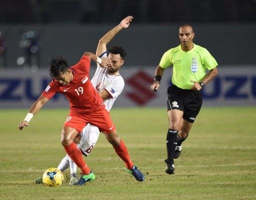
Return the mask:
[[123,28],[127,28],[133,19],[133,16],[126,16],[121,22],[105,33],[98,41],[96,55],[100,56],[103,52],[106,51],[106,44]]

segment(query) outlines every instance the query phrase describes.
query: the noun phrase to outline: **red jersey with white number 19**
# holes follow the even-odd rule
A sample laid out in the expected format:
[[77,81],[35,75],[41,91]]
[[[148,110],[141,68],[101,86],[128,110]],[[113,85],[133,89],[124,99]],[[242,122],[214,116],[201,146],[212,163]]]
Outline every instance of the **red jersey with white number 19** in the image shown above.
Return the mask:
[[46,98],[51,98],[56,92],[66,96],[72,112],[94,112],[102,108],[102,98],[89,80],[90,58],[82,56],[79,62],[70,67],[73,79],[67,85],[61,85],[54,78],[42,92]]

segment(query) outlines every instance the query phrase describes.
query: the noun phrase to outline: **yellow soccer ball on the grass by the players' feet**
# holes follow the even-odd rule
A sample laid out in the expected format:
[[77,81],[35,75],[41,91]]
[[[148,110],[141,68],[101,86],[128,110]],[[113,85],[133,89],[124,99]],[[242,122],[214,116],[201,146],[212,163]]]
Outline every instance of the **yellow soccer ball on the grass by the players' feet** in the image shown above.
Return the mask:
[[46,186],[60,186],[63,182],[63,173],[54,167],[48,168],[42,174],[42,182]]

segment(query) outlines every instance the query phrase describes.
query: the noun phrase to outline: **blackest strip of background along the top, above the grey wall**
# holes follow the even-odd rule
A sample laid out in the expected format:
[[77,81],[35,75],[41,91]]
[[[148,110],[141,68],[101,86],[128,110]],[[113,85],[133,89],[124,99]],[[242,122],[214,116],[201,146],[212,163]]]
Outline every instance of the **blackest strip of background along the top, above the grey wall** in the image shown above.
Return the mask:
[[1,23],[255,22],[256,0],[1,0]]

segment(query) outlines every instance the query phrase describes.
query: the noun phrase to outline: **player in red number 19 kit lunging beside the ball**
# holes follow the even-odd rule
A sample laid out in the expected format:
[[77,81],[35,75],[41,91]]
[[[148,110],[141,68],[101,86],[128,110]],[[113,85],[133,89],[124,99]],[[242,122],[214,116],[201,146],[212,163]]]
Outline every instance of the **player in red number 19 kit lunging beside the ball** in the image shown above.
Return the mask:
[[96,61],[101,67],[110,64],[108,58],[99,58],[91,52],[85,52],[78,63],[69,67],[62,56],[53,57],[48,61],[49,75],[53,78],[39,98],[33,103],[26,117],[18,125],[19,129],[29,124],[29,120],[56,93],[62,93],[69,101],[70,110],[61,131],[61,144],[66,153],[81,169],[82,175],[74,185],[82,185],[94,180],[95,175],[86,165],[82,153],[74,143],[75,136],[87,124],[93,124],[104,133],[113,145],[117,155],[124,161],[126,170],[136,180],[143,181],[144,175],[133,165],[124,142],[119,138],[115,126],[105,109],[103,100],[89,80],[90,60]]

